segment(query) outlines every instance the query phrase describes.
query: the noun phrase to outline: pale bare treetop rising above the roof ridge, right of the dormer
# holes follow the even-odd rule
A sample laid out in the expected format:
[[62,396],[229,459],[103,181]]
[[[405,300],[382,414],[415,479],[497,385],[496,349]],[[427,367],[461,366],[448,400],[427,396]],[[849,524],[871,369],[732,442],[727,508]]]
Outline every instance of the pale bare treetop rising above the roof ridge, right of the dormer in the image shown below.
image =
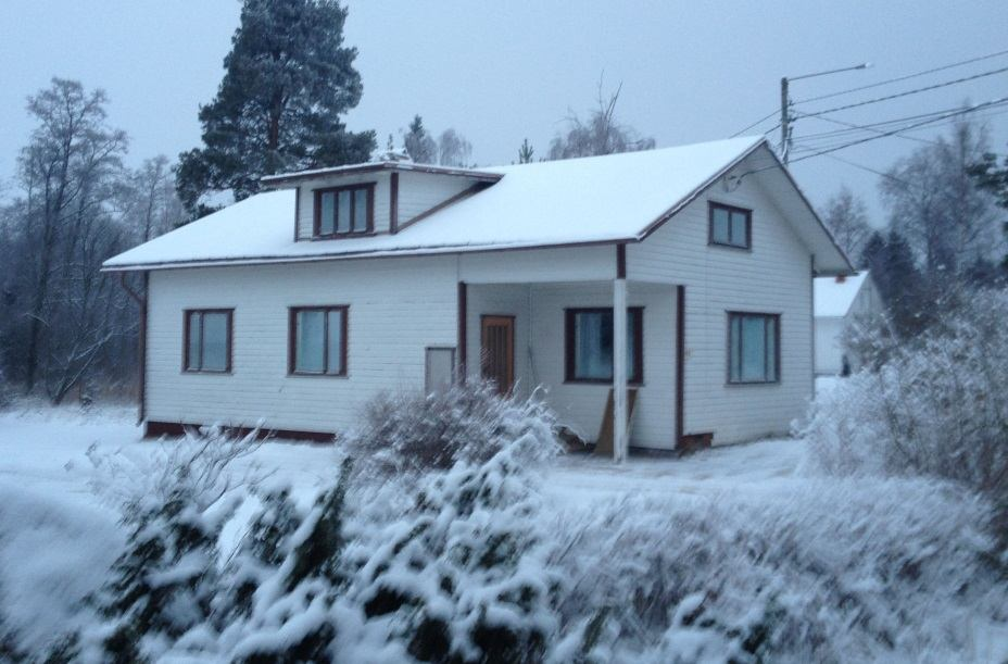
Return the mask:
[[582,121],[574,112],[568,114],[566,134],[554,137],[550,143],[549,159],[574,159],[654,149],[654,138],[641,137],[635,129],[616,118],[616,102],[621,89],[622,84],[606,97],[600,80],[597,108],[591,112],[587,121]]

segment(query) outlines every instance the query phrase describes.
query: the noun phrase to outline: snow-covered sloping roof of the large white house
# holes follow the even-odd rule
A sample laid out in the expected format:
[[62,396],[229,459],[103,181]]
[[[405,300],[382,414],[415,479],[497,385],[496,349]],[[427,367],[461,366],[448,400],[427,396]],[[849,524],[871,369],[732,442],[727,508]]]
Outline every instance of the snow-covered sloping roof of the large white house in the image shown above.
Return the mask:
[[[639,241],[657,222],[763,145],[761,137],[744,137],[469,171],[478,180],[499,179],[394,235],[329,241],[295,241],[294,191],[267,191],[114,256],[104,267],[150,270]],[[314,175],[401,166],[396,162],[364,164]],[[289,184],[305,175],[275,176],[268,183]],[[814,213],[811,218],[818,226]],[[824,231],[820,235],[829,238]],[[836,256],[836,270],[845,270],[846,261],[839,250]]]

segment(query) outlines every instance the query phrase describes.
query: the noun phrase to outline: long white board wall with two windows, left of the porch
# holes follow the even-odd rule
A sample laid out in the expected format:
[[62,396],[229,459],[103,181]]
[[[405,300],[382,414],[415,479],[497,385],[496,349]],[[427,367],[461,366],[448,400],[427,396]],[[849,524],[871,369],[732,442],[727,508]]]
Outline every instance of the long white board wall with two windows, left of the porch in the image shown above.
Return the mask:
[[[423,389],[427,346],[455,346],[452,256],[151,273],[147,417],[333,431],[385,389]],[[349,304],[345,378],[288,376],[288,306]],[[234,308],[234,371],[181,371],[182,310]]]

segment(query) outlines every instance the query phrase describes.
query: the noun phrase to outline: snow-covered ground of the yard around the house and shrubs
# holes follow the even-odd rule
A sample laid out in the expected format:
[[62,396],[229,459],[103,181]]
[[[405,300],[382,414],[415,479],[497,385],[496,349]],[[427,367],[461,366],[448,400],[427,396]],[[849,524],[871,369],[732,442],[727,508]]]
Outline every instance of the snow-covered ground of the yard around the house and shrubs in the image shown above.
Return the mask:
[[[73,628],[75,622],[87,619],[75,604],[108,580],[106,569],[122,551],[121,544],[126,537],[118,524],[118,512],[103,503],[89,487],[96,476],[92,464],[94,452],[98,455],[114,452],[116,459],[142,465],[143,460],[160,450],[160,443],[140,439],[131,408],[81,411],[76,408],[23,405],[0,412],[0,607],[5,610],[0,617],[8,621],[7,625],[0,623],[0,628],[14,629],[25,642],[41,643],[46,642],[47,635],[65,631]],[[873,514],[871,506],[874,499],[864,496],[859,485],[845,481],[815,485],[799,472],[804,455],[805,443],[795,439],[718,448],[684,459],[634,456],[621,466],[605,458],[568,455],[558,459],[546,471],[544,503],[558,517],[557,523],[565,519],[568,524],[580,523],[587,528],[585,533],[597,529],[596,535],[610,530],[612,522],[607,519],[613,514],[627,512],[627,518],[619,526],[622,530],[614,533],[615,539],[609,542],[622,551],[618,556],[628,555],[619,549],[626,544],[618,542],[626,537],[633,541],[633,537],[644,533],[634,528],[645,528],[647,524],[654,526],[645,528],[646,538],[638,542],[641,547],[673,551],[684,546],[682,542],[691,541],[683,539],[682,528],[696,528],[695,535],[700,536],[711,518],[722,524],[721,531],[707,533],[703,537],[728,539],[721,544],[714,542],[717,546],[711,544],[714,548],[707,559],[697,561],[708,560],[710,563],[711,555],[714,560],[729,555],[734,547],[731,542],[736,542],[733,538],[738,534],[743,537],[738,541],[749,541],[749,546],[753,541],[759,543],[761,540],[752,538],[764,526],[752,525],[752,531],[748,531],[743,527],[751,523],[747,519],[760,524],[766,522],[765,526],[769,529],[767,537],[771,539],[777,537],[771,537],[773,528],[782,528],[778,534],[781,537],[792,537],[793,533],[797,533],[799,549],[806,554],[810,551],[811,560],[826,565],[827,569],[834,566],[845,569],[855,565],[859,574],[870,573],[874,563],[864,561],[870,562],[871,556],[877,555],[873,547],[880,538],[889,542],[879,544],[886,554],[904,548],[900,536],[894,535],[898,528],[889,523],[893,521],[892,514]],[[331,486],[339,459],[340,453],[333,447],[270,441],[237,463],[256,463],[277,479],[289,481],[297,493],[308,498],[315,494],[317,487]],[[237,469],[241,471],[240,467]],[[822,493],[817,499],[819,489]],[[803,497],[797,504],[795,496]],[[921,494],[921,498],[927,496]],[[923,523],[915,519],[927,515],[917,514],[914,504],[893,499],[892,491],[880,493],[880,497],[889,497],[883,512],[906,511],[906,521],[910,524],[908,537],[927,539],[928,534],[918,530],[930,526],[914,525]],[[871,522],[869,525],[879,530],[866,539],[857,535],[857,529],[846,531],[846,517],[837,514],[836,519],[830,521],[828,517],[835,512],[830,505],[844,504],[845,501],[852,504],[855,514],[867,515],[866,523],[875,519],[877,524]],[[806,510],[803,506],[806,503],[811,503],[811,508]],[[947,506],[941,501],[936,504],[938,508]],[[696,505],[695,512],[692,505]],[[766,514],[761,512],[764,508]],[[632,511],[641,514],[629,514]],[[955,521],[958,513],[950,514],[952,521]],[[895,518],[899,521],[903,517]],[[957,526],[949,522],[949,527]],[[828,535],[827,530],[834,535]],[[935,537],[946,535],[934,534]],[[831,539],[836,541],[831,542]],[[598,537],[594,547],[601,547],[605,541],[605,537]],[[727,548],[722,550],[719,546]],[[833,550],[842,546],[847,547],[847,553]],[[957,546],[961,549],[961,542]],[[684,549],[683,553],[688,550]],[[598,549],[594,555],[605,556],[605,551]],[[839,557],[834,561],[831,556]],[[571,560],[577,561],[578,557],[584,556]],[[588,559],[594,560],[590,555]],[[952,553],[948,560],[958,561]],[[641,559],[634,564],[643,561]],[[711,569],[714,576],[726,573],[717,567]],[[869,586],[865,586],[869,581],[879,582],[874,577],[866,577],[866,580],[853,572],[844,574],[850,576],[844,582],[856,581],[857,592],[869,592]],[[778,581],[783,578],[781,576]],[[810,578],[815,580],[815,577]],[[835,582],[832,576],[820,580],[823,585]],[[613,579],[609,585],[618,587]],[[829,597],[826,590],[817,592],[819,594],[810,597]],[[927,592],[933,590],[923,591],[923,594]],[[915,610],[919,610],[920,602],[912,596],[907,597],[909,599],[899,601],[916,602]],[[937,601],[937,598],[932,597],[932,600]],[[815,602],[808,601],[811,602],[810,609]],[[883,605],[880,611],[885,614],[889,610]],[[967,610],[957,605],[948,609],[943,604],[943,611]],[[962,621],[945,619],[946,613],[938,612],[941,619],[935,623],[935,629],[962,624]],[[974,625],[976,635],[971,637],[968,650],[960,648],[954,651],[962,661],[1003,661],[1008,656],[1008,630],[1004,625],[992,623],[979,612],[975,619],[967,618],[966,622]],[[930,634],[931,629],[921,628],[919,631]],[[919,640],[921,637],[915,632],[914,638]],[[909,652],[910,659],[917,659],[912,647],[908,648],[902,654]],[[943,656],[947,654],[942,653]],[[931,656],[929,661],[940,660]]]

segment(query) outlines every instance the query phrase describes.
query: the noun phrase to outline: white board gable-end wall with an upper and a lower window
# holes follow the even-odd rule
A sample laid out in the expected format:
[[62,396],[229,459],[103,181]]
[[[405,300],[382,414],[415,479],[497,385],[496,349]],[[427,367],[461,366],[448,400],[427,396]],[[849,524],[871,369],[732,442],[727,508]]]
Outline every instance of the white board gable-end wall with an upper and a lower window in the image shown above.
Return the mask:
[[[743,163],[740,173],[761,164]],[[760,174],[718,183],[641,243],[628,278],[685,286],[685,434],[714,442],[786,434],[811,397],[809,251],[766,196]],[[707,245],[708,200],[753,210],[752,249]],[[781,314],[781,381],[727,385],[728,311]],[[645,360],[646,362],[646,360]]]

